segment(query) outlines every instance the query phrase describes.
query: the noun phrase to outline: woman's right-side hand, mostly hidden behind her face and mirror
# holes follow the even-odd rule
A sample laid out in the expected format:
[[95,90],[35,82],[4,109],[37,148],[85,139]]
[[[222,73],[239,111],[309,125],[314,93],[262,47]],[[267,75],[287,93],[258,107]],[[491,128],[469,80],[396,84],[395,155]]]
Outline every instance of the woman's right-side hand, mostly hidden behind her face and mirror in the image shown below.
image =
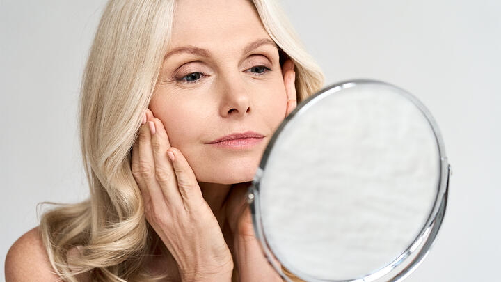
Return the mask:
[[[285,61],[282,74],[284,77],[285,92],[287,94],[287,107],[285,117],[296,108],[296,86],[294,79],[294,63]],[[260,242],[255,237],[250,207],[246,202],[246,193],[251,182],[238,183],[232,186],[226,203],[226,217],[232,230],[232,252],[237,262],[239,281],[283,281],[280,274],[269,264],[262,252]],[[278,260],[273,262],[281,267]]]

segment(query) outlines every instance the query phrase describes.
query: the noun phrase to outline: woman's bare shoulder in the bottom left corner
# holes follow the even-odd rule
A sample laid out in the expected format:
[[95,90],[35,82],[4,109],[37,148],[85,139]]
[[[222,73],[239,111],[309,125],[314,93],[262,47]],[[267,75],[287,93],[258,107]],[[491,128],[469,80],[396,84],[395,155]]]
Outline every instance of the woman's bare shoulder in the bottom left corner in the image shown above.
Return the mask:
[[6,282],[56,281],[38,226],[17,239],[6,256]]

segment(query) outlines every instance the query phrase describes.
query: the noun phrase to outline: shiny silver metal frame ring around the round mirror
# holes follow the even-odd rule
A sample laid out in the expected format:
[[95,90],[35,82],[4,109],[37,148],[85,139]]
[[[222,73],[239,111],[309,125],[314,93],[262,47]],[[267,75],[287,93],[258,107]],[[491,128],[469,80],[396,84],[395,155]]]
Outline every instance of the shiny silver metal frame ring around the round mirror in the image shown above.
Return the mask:
[[264,173],[264,169],[266,168],[270,152],[280,133],[283,132],[288,125],[290,125],[289,122],[292,119],[294,119],[295,116],[299,116],[303,111],[311,107],[312,104],[320,102],[324,97],[327,97],[328,95],[336,93],[337,91],[340,91],[344,88],[351,88],[353,86],[359,86],[363,84],[383,84],[384,86],[389,86],[390,88],[394,88],[396,91],[401,93],[401,95],[407,97],[408,100],[411,100],[411,102],[413,102],[415,106],[418,109],[420,109],[420,111],[422,111],[424,116],[427,118],[429,124],[431,125],[432,130],[434,131],[440,156],[440,176],[438,182],[439,187],[437,189],[434,206],[431,209],[426,224],[424,224],[419,235],[417,235],[415,240],[410,244],[410,246],[408,246],[406,251],[404,251],[404,253],[402,253],[397,259],[393,260],[392,263],[377,270],[376,272],[373,272],[372,274],[367,274],[366,276],[351,280],[325,280],[312,277],[309,274],[305,274],[304,272],[301,272],[299,269],[296,269],[289,265],[283,265],[283,267],[289,270],[289,272],[292,272],[292,274],[297,276],[299,279],[312,282],[401,281],[405,279],[409,274],[411,274],[416,269],[416,267],[419,266],[420,263],[422,263],[422,260],[427,256],[431,246],[434,244],[434,241],[438,234],[438,230],[440,229],[440,226],[443,222],[443,217],[445,215],[445,208],[447,206],[449,179],[450,175],[452,175],[452,169],[445,155],[445,146],[443,143],[442,134],[440,134],[438,125],[436,124],[436,121],[434,120],[433,116],[431,116],[431,113],[428,111],[427,107],[424,107],[424,104],[422,104],[422,102],[417,100],[417,98],[413,96],[411,93],[408,93],[402,88],[399,88],[392,84],[385,83],[383,81],[377,81],[373,79],[355,79],[333,84],[331,86],[322,89],[318,93],[311,95],[306,100],[299,103],[296,109],[294,109],[294,111],[289,113],[289,116],[287,116],[283,120],[283,122],[278,126],[276,132],[271,137],[271,140],[269,141],[266,150],[264,150],[260,166],[257,168],[252,185],[250,185],[248,192],[246,194],[247,202],[250,205],[250,211],[252,213],[255,235],[257,239],[260,241],[262,251],[266,256],[268,262],[271,264],[271,266],[287,282],[292,282],[292,281],[291,279],[289,279],[289,276],[283,273],[280,266],[274,263],[272,258],[276,258],[276,256],[273,256],[271,248],[267,243],[266,237],[264,237],[264,232],[262,228],[262,217],[260,208],[260,183],[262,182],[262,175]]

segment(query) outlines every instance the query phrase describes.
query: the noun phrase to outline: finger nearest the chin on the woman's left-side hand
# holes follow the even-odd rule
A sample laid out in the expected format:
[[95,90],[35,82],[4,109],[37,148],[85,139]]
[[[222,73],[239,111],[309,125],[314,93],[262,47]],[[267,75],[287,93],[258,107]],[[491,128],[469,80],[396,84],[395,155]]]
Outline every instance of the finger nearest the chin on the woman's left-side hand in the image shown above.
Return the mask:
[[186,210],[191,210],[193,207],[200,205],[200,200],[203,200],[202,191],[198,186],[195,173],[189,166],[188,161],[177,148],[170,147],[168,152],[173,155],[173,166],[177,177],[177,187],[184,201]]

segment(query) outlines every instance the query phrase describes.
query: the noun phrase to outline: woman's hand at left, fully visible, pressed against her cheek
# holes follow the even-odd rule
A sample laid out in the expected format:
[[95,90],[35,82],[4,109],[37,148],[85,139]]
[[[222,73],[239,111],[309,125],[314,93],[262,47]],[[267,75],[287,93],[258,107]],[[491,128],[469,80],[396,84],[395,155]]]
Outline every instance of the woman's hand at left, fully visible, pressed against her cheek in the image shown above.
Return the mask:
[[233,260],[218,221],[193,170],[181,151],[170,146],[164,125],[150,109],[134,143],[131,166],[145,217],[175,258],[182,281],[231,281]]

